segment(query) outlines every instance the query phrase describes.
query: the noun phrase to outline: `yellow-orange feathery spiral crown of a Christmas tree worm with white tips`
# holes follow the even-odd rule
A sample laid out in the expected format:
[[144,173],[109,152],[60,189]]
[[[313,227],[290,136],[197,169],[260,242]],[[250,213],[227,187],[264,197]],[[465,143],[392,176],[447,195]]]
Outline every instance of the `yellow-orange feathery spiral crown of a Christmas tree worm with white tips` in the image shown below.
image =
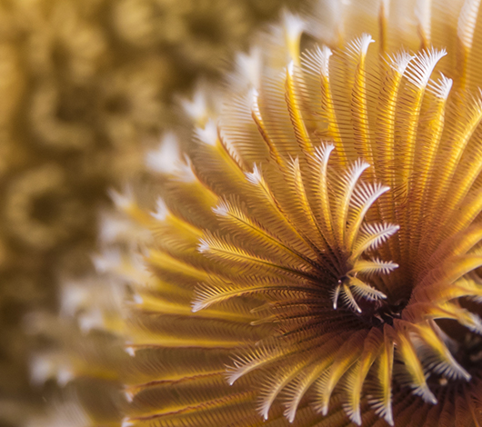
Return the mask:
[[411,33],[390,2],[328,3],[331,47],[300,55],[286,15],[217,122],[190,105],[154,217],[125,206],[154,234],[126,425],[480,424],[478,2]]

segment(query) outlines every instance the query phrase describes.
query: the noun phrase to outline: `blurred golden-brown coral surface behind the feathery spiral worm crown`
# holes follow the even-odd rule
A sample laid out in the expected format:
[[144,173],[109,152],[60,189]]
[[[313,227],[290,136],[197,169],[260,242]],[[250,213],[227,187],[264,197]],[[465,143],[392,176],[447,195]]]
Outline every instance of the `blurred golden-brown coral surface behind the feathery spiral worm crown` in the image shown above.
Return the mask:
[[[0,1],[0,426],[25,425],[45,388],[28,373],[25,315],[92,268],[109,187],[182,126],[180,97],[218,80],[256,26],[296,0]],[[188,139],[187,139],[188,141]]]

